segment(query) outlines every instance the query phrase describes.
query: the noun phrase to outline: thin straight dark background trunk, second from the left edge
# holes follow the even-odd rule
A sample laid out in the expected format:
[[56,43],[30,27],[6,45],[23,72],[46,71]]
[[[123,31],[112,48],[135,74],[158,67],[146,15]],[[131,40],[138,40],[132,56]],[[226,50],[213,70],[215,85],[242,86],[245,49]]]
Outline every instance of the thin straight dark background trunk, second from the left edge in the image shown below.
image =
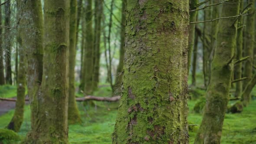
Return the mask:
[[9,85],[12,85],[12,69],[11,69],[11,36],[10,36],[10,19],[11,19],[11,10],[10,10],[10,0],[7,0],[7,3],[5,3],[5,50],[6,50],[6,56],[5,56],[5,73],[6,73],[6,83]]

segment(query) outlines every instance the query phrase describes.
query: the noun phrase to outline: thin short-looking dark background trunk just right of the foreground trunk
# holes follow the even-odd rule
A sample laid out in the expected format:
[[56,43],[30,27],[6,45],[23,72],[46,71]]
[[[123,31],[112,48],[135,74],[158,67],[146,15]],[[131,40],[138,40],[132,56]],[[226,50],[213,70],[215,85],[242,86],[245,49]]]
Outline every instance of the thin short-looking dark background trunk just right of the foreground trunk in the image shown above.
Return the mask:
[[195,33],[195,42],[194,42],[194,50],[193,50],[193,64],[192,64],[192,85],[196,85],[196,77],[197,77],[197,47],[198,47],[198,34]]

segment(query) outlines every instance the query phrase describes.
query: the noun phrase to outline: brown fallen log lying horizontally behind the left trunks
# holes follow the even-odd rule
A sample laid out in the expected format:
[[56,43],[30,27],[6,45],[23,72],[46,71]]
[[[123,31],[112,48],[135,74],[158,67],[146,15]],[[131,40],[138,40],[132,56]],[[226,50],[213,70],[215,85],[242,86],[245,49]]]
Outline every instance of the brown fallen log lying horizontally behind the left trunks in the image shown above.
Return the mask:
[[[82,98],[75,98],[76,101],[109,101],[109,102],[115,102],[119,101],[120,96],[114,96],[114,97],[96,97],[92,95],[88,95]],[[16,98],[0,98],[1,101],[16,101]],[[25,98],[25,101],[29,101],[29,98]]]

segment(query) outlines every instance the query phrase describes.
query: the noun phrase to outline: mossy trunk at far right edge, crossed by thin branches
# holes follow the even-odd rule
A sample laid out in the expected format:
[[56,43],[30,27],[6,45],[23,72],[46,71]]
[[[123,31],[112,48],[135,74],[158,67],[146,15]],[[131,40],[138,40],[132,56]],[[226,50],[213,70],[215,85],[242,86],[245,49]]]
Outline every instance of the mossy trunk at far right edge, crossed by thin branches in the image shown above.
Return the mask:
[[[249,6],[248,13],[254,13],[254,4],[255,0],[251,0],[248,2],[248,4],[251,4]],[[245,89],[246,85],[250,82],[252,76],[253,76],[253,49],[254,49],[254,31],[255,31],[255,13],[250,14],[247,17],[246,20],[246,29],[245,29],[245,49],[244,49],[244,56],[249,56],[249,59],[245,62],[244,71],[243,71],[243,77],[247,77],[246,80],[243,81],[243,89]],[[249,104],[250,95],[244,95],[243,98],[243,105]]]

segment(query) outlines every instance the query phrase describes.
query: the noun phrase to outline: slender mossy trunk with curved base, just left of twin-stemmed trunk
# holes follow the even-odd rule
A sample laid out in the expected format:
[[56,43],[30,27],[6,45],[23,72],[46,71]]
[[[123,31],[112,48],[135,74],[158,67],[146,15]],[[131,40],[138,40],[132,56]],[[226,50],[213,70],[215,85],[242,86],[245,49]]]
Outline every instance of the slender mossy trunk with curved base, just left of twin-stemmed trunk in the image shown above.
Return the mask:
[[[20,7],[20,1],[17,1],[18,4],[18,17],[20,15],[21,11],[21,7]],[[21,29],[21,27],[19,28]],[[18,36],[17,36],[17,40],[20,46],[19,49],[19,73],[17,75],[17,101],[16,101],[16,105],[15,105],[15,111],[14,111],[14,115],[13,118],[11,119],[10,123],[8,124],[7,128],[13,131],[18,132],[20,130],[21,124],[23,122],[23,113],[24,113],[24,105],[25,105],[25,87],[26,87],[26,57],[25,57],[25,48],[22,47],[24,46],[24,42],[22,41],[21,37],[20,37],[20,32],[24,31],[20,31],[18,29]]]

